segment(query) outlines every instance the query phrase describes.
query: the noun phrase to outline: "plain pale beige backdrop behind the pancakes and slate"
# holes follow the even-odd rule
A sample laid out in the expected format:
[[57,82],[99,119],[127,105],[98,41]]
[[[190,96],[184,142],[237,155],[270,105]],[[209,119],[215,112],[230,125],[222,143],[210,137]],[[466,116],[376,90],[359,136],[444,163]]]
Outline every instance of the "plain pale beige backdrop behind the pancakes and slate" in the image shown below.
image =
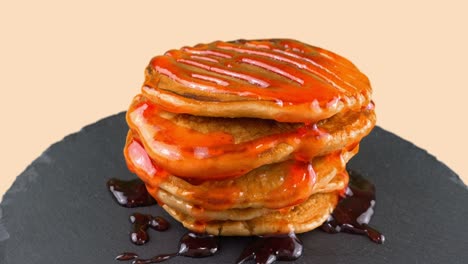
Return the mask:
[[456,1],[64,2],[0,4],[0,195],[50,144],[125,110],[152,56],[270,37],[348,57],[371,79],[378,124],[468,182],[468,9]]

